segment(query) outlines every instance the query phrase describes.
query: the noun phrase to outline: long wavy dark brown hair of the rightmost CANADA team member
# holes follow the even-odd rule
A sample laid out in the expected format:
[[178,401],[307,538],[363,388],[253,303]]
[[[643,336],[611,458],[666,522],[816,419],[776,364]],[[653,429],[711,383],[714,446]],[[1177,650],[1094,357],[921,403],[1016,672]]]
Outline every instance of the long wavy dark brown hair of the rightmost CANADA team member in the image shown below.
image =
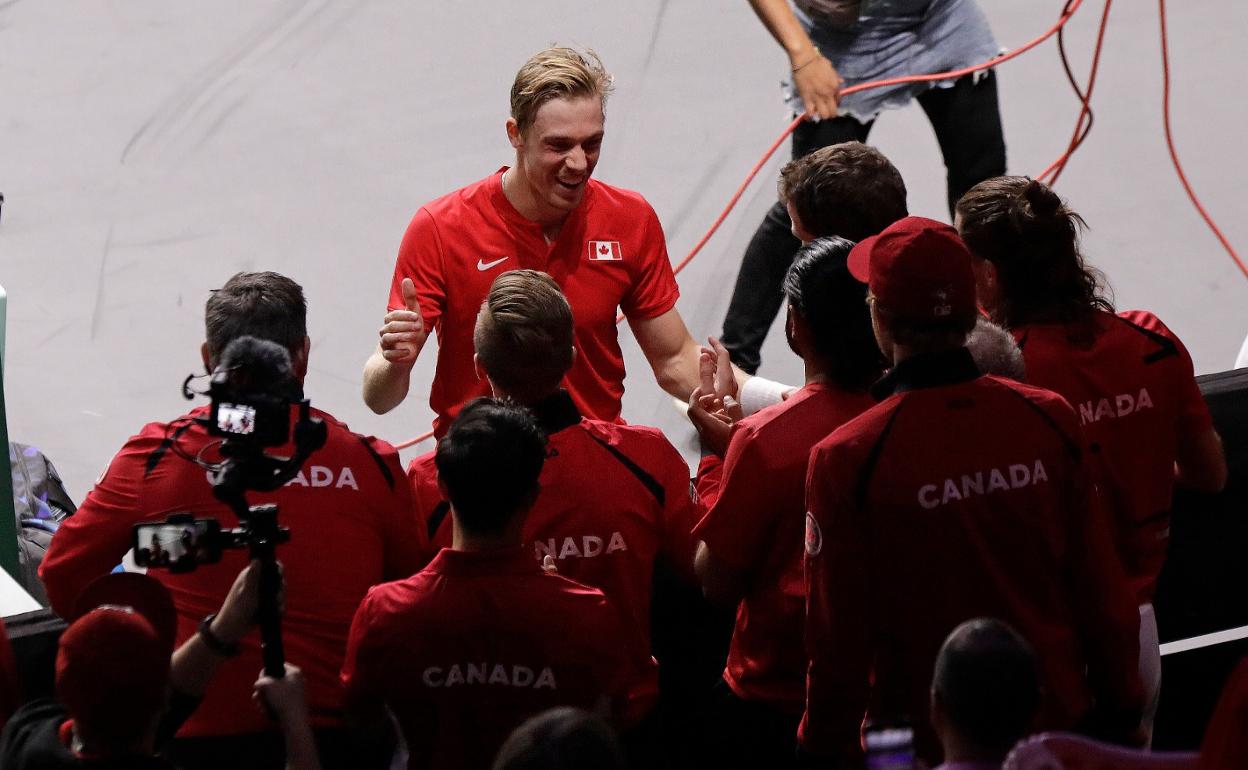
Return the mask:
[[971,187],[953,210],[967,248],[997,268],[998,323],[1066,323],[1096,309],[1113,312],[1104,277],[1080,251],[1087,223],[1048,185],[993,177]]

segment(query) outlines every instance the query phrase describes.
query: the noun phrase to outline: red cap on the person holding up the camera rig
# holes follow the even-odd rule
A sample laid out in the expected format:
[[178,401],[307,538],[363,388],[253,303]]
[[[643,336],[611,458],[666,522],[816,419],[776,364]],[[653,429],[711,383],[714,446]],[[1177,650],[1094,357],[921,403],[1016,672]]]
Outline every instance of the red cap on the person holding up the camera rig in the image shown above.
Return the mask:
[[167,698],[177,626],[168,592],[147,575],[105,575],[70,619],[56,653],[57,699],[82,735],[141,738]]

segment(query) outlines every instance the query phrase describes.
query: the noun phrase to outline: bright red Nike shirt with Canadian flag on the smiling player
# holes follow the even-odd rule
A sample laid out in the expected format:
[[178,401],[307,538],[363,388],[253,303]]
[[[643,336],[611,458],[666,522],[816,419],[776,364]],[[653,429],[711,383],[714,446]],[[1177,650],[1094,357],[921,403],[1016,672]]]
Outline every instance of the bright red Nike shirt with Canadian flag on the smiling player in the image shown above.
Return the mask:
[[401,285],[412,278],[426,328],[438,337],[434,428],[442,436],[461,404],[489,396],[473,371],[477,312],[494,278],[522,267],[548,273],[572,306],[577,361],[565,386],[577,406],[617,422],[624,396],[617,308],[630,319],[654,318],[679,296],[659,217],[640,195],[592,178],[559,237],[547,243],[542,226],[503,195],[503,171],[421,207],[399,247],[389,309],[404,307]]

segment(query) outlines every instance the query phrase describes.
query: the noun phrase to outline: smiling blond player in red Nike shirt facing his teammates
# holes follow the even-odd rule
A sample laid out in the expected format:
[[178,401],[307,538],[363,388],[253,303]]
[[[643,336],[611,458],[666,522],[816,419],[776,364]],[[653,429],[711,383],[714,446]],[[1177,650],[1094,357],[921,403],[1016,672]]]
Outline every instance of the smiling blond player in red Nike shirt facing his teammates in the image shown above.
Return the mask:
[[518,267],[549,273],[568,296],[579,354],[567,388],[588,417],[619,421],[618,308],[665,391],[684,401],[698,386],[698,344],[675,309],[659,218],[640,195],[592,178],[609,92],[593,52],[552,47],[520,67],[507,121],[515,165],[423,206],[403,236],[389,312],[364,366],[374,412],[407,397],[429,331],[438,434],[459,404],[489,393],[473,373],[473,321],[498,273]]

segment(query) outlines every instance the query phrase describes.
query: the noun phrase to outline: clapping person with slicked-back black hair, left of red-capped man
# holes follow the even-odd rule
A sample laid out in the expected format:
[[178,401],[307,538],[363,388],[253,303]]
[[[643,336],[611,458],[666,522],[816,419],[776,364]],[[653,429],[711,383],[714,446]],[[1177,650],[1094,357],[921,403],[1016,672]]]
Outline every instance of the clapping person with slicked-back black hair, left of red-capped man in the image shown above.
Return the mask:
[[708,715],[704,751],[714,766],[794,763],[806,696],[806,463],[816,442],[875,403],[867,389],[884,369],[866,287],[845,263],[852,246],[821,238],[797,252],[784,282],[785,331],[805,362],[805,386],[733,426],[719,497],[694,530],[706,595],[738,605]]

